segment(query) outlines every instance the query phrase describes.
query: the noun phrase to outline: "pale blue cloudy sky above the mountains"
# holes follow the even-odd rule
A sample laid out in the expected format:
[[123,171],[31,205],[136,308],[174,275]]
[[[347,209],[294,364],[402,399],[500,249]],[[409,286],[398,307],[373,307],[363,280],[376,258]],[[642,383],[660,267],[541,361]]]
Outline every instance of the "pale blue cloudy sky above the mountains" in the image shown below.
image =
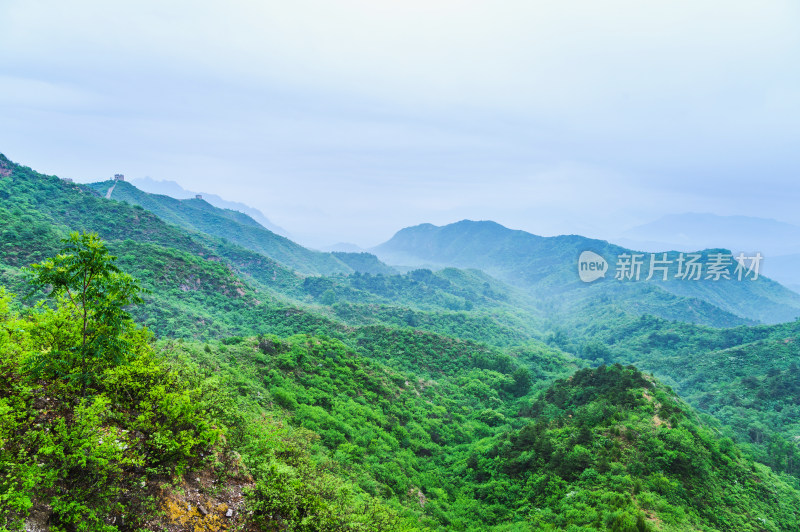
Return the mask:
[[0,0],[0,152],[300,242],[491,219],[800,224],[795,0]]

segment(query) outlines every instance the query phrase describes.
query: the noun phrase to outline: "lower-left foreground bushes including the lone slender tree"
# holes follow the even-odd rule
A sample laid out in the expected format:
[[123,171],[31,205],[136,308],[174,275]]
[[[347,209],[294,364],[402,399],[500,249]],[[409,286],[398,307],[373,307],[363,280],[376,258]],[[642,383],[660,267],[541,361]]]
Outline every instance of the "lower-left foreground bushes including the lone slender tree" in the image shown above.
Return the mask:
[[[214,457],[230,452],[224,443],[230,434],[254,478],[248,495],[254,523],[291,530],[392,529],[394,512],[327,472],[308,451],[308,433],[265,423],[257,404],[235,399],[236,383],[220,386],[180,358],[167,362],[150,348],[146,331],[93,323],[119,318],[109,307],[121,309],[135,290],[128,298],[115,290],[135,283],[109,265],[95,236],[73,235],[72,241],[74,255],[61,254],[34,270],[37,282],[73,292],[56,298],[67,312],[56,307],[20,316],[0,289],[0,526],[19,529],[42,505],[52,530],[118,530],[123,516],[128,526],[142,524],[157,510],[148,494],[157,480],[178,482],[214,464],[223,474],[225,464]],[[73,306],[87,311],[72,312]],[[97,329],[125,336],[123,343],[98,342],[122,346],[124,356],[93,368],[91,397],[81,398],[70,382],[26,371],[34,355],[52,346],[77,350],[83,331]]]

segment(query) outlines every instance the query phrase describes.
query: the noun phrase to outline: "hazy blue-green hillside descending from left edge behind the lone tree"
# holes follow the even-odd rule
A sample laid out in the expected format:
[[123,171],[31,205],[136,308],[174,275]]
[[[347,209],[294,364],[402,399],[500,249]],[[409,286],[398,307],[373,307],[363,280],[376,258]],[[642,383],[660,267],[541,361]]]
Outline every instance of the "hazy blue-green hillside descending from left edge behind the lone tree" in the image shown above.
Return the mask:
[[[140,206],[106,200],[83,186],[6,164],[11,175],[0,181],[0,219],[5,222],[0,276],[20,293],[19,267],[54,254],[60,238],[81,229],[99,233],[123,266],[142,280],[149,291],[147,304],[135,313],[158,334],[286,334],[341,330],[339,324],[345,322],[417,324],[502,345],[535,336],[530,328],[523,334],[511,329],[526,323],[523,317],[498,322],[488,315],[497,303],[494,294],[505,289],[477,273],[457,281],[458,274],[449,274],[456,282],[430,272],[384,276],[382,272],[389,272],[372,255],[339,254],[355,268],[377,275],[303,278],[230,241],[166,224]],[[370,307],[375,304],[383,309],[377,314]],[[311,305],[317,314],[298,305]],[[472,305],[483,307],[483,315],[464,314]]]

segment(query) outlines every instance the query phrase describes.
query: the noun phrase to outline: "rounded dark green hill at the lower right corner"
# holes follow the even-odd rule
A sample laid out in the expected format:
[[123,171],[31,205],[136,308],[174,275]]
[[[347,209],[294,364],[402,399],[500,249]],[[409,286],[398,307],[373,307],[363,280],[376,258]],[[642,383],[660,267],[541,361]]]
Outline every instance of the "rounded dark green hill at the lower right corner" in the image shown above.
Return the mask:
[[536,527],[798,529],[796,491],[633,367],[580,370],[527,415],[473,464],[476,478],[524,484],[494,496]]

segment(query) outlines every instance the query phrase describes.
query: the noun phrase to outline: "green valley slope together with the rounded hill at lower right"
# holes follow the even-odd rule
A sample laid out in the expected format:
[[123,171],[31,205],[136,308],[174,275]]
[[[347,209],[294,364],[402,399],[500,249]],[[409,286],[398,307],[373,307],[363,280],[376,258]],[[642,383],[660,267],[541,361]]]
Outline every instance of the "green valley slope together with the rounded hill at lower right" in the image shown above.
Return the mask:
[[542,386],[565,361],[539,351],[525,393],[525,358],[447,356],[424,336],[361,354],[307,336],[163,349],[236,375],[348,479],[436,529],[798,529],[798,491],[632,368]]

